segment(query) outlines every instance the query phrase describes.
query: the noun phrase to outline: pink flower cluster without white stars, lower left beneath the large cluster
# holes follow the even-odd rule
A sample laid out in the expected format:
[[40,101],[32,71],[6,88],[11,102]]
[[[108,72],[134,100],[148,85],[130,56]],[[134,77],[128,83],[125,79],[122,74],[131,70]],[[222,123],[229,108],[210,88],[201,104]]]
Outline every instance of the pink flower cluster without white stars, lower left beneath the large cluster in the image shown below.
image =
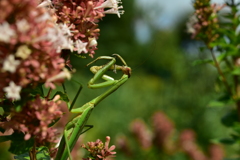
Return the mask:
[[54,100],[47,101],[37,96],[33,101],[28,101],[20,112],[14,111],[5,122],[0,122],[0,127],[24,133],[25,140],[33,137],[37,146],[51,147],[51,144],[57,143],[58,134],[49,125],[62,116],[59,98],[55,96]]

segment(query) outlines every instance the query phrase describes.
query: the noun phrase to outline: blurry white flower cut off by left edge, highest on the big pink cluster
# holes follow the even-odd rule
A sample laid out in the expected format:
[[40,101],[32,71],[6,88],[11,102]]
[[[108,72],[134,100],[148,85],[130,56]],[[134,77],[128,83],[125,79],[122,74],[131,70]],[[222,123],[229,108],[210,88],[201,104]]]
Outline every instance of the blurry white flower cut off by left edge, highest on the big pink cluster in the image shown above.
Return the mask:
[[10,42],[11,37],[15,35],[15,31],[10,27],[8,22],[0,24],[0,41]]

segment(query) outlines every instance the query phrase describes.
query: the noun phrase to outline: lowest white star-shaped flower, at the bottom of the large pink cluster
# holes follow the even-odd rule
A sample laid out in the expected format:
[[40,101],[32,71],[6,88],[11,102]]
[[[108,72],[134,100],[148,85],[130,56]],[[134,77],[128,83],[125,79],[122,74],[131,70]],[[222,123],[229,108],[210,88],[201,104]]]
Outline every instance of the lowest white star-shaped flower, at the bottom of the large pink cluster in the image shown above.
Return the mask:
[[7,93],[7,98],[12,98],[14,100],[21,99],[20,97],[20,91],[22,87],[17,86],[13,81],[9,83],[8,87],[3,88],[3,90]]

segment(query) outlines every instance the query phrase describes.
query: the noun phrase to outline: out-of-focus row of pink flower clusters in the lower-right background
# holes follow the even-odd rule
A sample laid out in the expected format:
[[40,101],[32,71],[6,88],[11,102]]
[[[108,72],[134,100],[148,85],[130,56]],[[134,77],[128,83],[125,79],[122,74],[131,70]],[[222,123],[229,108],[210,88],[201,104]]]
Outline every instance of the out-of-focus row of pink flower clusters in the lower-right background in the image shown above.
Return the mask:
[[[216,144],[211,144],[208,153],[204,153],[196,142],[195,132],[190,129],[179,131],[178,136],[173,122],[161,111],[153,114],[151,126],[153,129],[149,130],[147,124],[140,119],[134,120],[130,125],[131,132],[141,146],[139,152],[142,152],[142,149],[144,149],[143,152],[150,152],[151,149],[155,151],[157,147],[161,153],[168,156],[181,152],[192,160],[221,160],[224,157],[223,149]],[[136,159],[132,154],[136,148],[133,149],[129,145],[129,139],[126,136],[117,138],[117,147],[126,156]]]

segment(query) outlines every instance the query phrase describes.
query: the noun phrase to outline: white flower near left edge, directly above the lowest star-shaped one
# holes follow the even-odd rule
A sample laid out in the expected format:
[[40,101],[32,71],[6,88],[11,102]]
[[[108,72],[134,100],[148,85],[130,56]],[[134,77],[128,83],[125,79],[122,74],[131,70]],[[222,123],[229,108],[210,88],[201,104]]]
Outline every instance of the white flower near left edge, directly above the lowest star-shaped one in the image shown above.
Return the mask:
[[15,60],[14,55],[10,54],[3,62],[3,70],[14,73],[21,62]]

